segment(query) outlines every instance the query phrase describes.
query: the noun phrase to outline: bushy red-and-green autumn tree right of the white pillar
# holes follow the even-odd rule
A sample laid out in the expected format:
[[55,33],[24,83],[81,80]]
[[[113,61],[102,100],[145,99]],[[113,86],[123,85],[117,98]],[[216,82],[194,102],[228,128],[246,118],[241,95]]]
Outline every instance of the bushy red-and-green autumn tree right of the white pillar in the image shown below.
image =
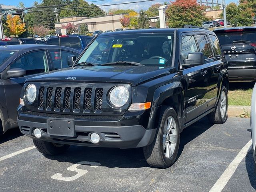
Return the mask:
[[181,28],[184,25],[201,26],[208,20],[204,15],[204,7],[199,6],[196,0],[176,0],[166,10],[168,26]]

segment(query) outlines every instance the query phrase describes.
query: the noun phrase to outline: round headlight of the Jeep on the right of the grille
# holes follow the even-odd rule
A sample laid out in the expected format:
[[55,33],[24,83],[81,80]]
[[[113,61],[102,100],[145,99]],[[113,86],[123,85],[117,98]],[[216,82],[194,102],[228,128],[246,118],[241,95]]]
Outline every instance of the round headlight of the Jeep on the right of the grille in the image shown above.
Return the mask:
[[129,99],[129,91],[124,86],[117,86],[110,91],[109,101],[115,107],[124,106]]

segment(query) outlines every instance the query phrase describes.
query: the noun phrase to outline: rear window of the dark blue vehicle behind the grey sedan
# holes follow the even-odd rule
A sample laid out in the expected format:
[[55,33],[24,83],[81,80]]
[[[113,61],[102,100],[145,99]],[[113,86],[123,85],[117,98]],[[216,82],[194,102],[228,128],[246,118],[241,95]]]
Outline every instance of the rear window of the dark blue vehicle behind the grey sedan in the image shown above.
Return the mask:
[[61,45],[65,47],[70,47],[73,49],[82,49],[82,44],[80,38],[78,37],[59,37],[59,38],[50,38],[47,43],[49,45]]

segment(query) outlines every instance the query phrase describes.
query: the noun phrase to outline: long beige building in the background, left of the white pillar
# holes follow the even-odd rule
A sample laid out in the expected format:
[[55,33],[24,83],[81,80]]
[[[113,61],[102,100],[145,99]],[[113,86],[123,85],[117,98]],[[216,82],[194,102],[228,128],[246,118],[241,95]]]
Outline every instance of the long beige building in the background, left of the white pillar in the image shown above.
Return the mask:
[[62,18],[60,19],[60,23],[55,24],[55,28],[60,28],[62,35],[66,34],[66,30],[63,28],[62,25],[66,25],[69,22],[74,26],[78,27],[81,24],[87,24],[89,31],[96,31],[96,30],[115,30],[117,28],[122,28],[122,24],[120,23],[120,18],[124,18],[126,14],[117,14],[117,15],[106,15],[100,17],[69,17],[69,18]]

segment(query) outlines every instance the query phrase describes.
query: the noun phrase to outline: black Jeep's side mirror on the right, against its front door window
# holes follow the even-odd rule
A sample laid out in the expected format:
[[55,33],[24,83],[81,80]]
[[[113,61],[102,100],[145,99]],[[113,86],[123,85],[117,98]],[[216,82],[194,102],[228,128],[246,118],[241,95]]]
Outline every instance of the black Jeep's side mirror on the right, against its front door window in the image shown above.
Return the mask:
[[204,54],[202,52],[189,53],[188,57],[184,59],[183,67],[198,66],[205,63]]

